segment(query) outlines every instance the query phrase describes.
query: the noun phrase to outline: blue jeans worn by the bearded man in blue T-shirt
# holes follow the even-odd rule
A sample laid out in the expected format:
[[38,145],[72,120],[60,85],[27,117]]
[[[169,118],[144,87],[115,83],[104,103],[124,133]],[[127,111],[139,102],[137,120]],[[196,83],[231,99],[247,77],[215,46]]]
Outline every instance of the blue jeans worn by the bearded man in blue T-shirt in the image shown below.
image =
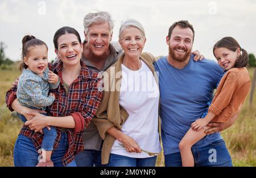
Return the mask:
[[[232,167],[232,159],[226,148],[225,141],[220,139],[212,142],[207,146],[200,148],[192,147],[195,166],[218,166]],[[164,155],[164,163],[166,166],[182,166],[180,152]]]

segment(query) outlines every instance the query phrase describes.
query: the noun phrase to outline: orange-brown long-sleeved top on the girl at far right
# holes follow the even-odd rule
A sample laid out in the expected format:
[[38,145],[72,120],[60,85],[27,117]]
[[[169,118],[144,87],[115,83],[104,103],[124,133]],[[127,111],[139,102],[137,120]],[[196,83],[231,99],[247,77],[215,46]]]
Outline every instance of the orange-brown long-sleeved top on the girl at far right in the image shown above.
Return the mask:
[[250,86],[249,73],[245,67],[228,70],[209,107],[209,111],[216,115],[212,122],[226,122],[235,115],[242,107]]

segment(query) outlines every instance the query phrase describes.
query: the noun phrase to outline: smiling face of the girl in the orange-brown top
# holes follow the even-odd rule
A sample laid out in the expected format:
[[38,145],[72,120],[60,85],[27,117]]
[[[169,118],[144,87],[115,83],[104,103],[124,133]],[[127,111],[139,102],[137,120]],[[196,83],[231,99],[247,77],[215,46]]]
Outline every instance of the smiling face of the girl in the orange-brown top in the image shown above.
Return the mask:
[[223,69],[229,70],[234,67],[237,58],[239,57],[240,50],[239,48],[233,52],[228,48],[216,48],[214,50],[214,56]]

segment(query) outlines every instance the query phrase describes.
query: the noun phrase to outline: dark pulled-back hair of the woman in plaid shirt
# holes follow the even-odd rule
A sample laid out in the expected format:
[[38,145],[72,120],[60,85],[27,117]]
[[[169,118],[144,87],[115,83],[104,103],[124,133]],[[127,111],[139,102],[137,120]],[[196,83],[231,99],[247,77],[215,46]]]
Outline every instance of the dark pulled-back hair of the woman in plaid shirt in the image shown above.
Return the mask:
[[72,27],[61,27],[60,29],[58,29],[55,32],[54,37],[53,37],[53,44],[54,44],[54,48],[55,49],[58,49],[57,40],[59,39],[59,37],[61,35],[65,35],[65,34],[69,34],[69,33],[76,35],[77,39],[79,40],[79,43],[81,43],[81,37],[79,35],[79,32],[77,32],[75,28],[72,28]]

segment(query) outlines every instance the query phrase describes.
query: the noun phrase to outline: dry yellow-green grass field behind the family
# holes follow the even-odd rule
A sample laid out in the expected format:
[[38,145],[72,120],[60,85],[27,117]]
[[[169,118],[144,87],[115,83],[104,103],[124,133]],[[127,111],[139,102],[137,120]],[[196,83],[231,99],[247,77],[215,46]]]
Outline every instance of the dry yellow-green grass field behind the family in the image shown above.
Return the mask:
[[[0,166],[13,166],[13,147],[22,122],[11,113],[5,104],[5,93],[19,76],[17,67],[0,70]],[[249,69],[252,77],[253,69]],[[256,92],[254,105],[249,107],[247,97],[238,120],[221,135],[232,156],[234,166],[256,166]],[[163,153],[158,156],[156,166],[164,166]]]

